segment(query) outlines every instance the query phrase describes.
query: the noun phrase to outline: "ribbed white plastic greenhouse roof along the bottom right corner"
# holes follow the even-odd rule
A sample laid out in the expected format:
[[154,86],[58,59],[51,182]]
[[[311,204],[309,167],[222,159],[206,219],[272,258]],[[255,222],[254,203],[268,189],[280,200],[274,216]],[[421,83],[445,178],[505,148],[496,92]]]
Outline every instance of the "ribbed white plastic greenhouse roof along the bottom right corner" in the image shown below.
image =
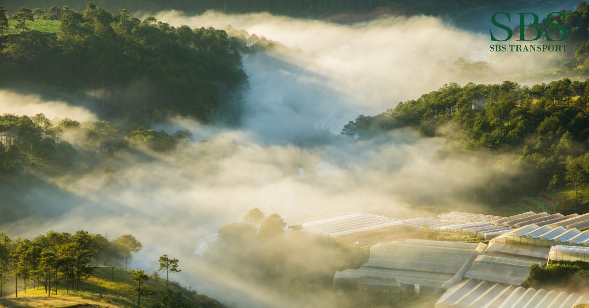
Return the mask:
[[572,308],[589,302],[589,294],[547,291],[509,286],[489,281],[464,279],[449,288],[438,299],[436,308],[443,307],[534,307]]

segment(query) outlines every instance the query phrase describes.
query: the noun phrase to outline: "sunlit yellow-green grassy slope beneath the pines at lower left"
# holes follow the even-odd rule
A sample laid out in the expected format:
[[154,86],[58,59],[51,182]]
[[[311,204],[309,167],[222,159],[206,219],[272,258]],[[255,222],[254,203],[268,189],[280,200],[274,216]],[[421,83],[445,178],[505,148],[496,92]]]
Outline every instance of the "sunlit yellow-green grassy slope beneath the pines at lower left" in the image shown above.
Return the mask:
[[[80,291],[70,291],[65,294],[64,283],[58,286],[58,294],[52,292],[48,298],[44,289],[28,289],[27,293],[19,292],[18,298],[3,297],[0,299],[0,307],[137,307],[137,295],[134,283],[131,280],[131,271],[114,269],[114,280],[111,279],[111,267],[98,267],[94,274],[82,281]],[[153,277],[152,277],[153,278]],[[166,292],[166,280],[151,279],[147,286],[156,290],[157,294],[141,298],[142,307],[151,307]],[[31,287],[31,286],[29,286]],[[174,293],[180,291],[186,297],[193,299],[198,306],[223,307],[219,302],[210,297],[196,295],[170,283],[170,289]]]

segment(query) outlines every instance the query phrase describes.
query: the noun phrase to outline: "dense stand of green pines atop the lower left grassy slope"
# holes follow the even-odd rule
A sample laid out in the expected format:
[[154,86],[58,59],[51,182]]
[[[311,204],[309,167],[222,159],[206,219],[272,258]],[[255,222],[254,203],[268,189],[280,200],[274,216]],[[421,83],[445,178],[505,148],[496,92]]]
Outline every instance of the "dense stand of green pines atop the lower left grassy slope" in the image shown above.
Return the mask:
[[131,234],[108,240],[101,234],[76,231],[75,234],[49,231],[33,240],[18,237],[9,239],[0,232],[0,297],[8,277],[15,279],[15,296],[18,297],[19,279],[27,292],[30,280],[33,287],[43,286],[45,293],[58,293],[58,286],[66,292],[80,289],[82,279],[94,271],[95,265],[118,265],[125,259],[125,265],[132,252],[142,248],[141,243]]

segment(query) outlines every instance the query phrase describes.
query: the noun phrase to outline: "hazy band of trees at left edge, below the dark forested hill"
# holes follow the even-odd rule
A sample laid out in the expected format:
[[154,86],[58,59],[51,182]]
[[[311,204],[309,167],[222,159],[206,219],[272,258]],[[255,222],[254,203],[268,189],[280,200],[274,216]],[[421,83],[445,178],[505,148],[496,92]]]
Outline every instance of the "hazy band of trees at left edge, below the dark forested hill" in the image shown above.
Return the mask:
[[146,147],[166,152],[191,138],[190,131],[170,135],[137,124],[128,127],[107,121],[81,124],[69,118],[54,124],[44,114],[34,117],[4,114],[0,115],[0,181],[30,168],[79,173],[117,151]]

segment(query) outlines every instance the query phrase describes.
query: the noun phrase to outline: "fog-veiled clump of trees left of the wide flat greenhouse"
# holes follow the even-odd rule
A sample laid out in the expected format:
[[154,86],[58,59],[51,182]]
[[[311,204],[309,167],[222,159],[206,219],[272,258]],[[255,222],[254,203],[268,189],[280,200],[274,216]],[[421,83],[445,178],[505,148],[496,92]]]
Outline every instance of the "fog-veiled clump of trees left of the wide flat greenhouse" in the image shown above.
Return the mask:
[[263,228],[256,236],[250,223],[222,227],[219,240],[204,258],[253,283],[288,293],[330,290],[335,271],[358,268],[368,260],[368,252],[358,246],[305,232],[285,233],[283,229],[273,236],[262,236]]

